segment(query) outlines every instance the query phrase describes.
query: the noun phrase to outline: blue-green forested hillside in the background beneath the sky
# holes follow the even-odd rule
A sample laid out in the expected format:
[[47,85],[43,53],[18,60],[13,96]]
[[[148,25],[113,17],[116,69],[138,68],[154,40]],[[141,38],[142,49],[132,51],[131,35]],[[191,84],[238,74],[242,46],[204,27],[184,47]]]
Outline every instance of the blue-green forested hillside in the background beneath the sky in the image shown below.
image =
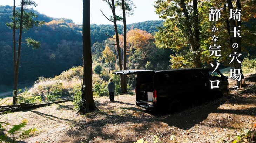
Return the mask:
[[[16,7],[16,10],[20,10],[20,8],[21,7],[18,6]],[[63,18],[54,18],[53,20],[53,18],[40,14],[35,10],[31,11],[38,15],[36,20],[43,20],[45,21],[45,24],[43,24],[41,27],[33,27],[22,33],[22,42],[25,42],[25,39],[31,37],[40,42],[40,48],[38,50],[33,50],[32,48],[28,48],[28,46],[25,43],[22,43],[21,58],[19,64],[20,68],[18,88],[22,88],[24,84],[32,83],[33,81],[37,80],[40,76],[54,77],[55,75],[58,75],[62,71],[65,71],[73,66],[82,65],[81,56],[79,55],[79,53],[82,52],[82,25],[75,24],[72,22],[72,20],[67,20]],[[2,83],[0,90],[5,92],[13,90],[14,83],[14,72],[10,72],[14,71],[13,34],[10,34],[11,30],[6,26],[7,22],[12,22],[10,16],[13,15],[13,7],[8,5],[0,6],[0,15],[0,48],[6,49],[3,47],[12,47],[12,54],[9,53],[10,51],[0,50],[0,59],[2,59],[0,64],[0,82]],[[152,33],[157,30],[157,26],[162,25],[162,22],[163,21],[147,21],[134,24],[127,24],[127,32],[134,25],[134,28],[143,29],[149,31],[148,33]],[[123,26],[117,25],[117,28],[118,32],[122,34]],[[18,30],[16,29],[16,42],[18,42],[17,32]],[[105,33],[111,36],[115,35],[113,25],[91,24],[92,60],[99,60],[99,63],[104,63],[102,51],[105,49],[105,40],[108,38],[108,36],[106,36]],[[123,59],[123,41],[120,41],[119,43],[121,48],[121,58]],[[16,46],[16,51],[18,51],[18,43],[16,43]],[[108,46],[113,51],[113,53],[117,55],[117,50],[113,50],[114,45]],[[60,51],[62,49],[67,49],[67,51]],[[128,52],[129,51],[127,50],[127,54]],[[65,57],[65,55],[68,56]],[[167,56],[167,58],[168,57],[169,55]],[[118,63],[118,61],[116,63]],[[113,64],[114,63],[111,63],[112,70],[115,68]],[[108,64],[107,67],[109,67]],[[6,88],[6,86],[11,87]]]

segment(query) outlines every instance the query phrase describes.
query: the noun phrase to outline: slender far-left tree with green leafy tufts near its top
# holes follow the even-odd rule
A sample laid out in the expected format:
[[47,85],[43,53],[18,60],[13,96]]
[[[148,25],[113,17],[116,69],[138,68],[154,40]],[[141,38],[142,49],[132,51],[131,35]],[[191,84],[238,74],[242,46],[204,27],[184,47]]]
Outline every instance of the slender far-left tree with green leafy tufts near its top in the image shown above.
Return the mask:
[[[35,21],[33,18],[37,17],[37,15],[29,11],[27,12],[27,6],[37,6],[36,3],[32,0],[21,0],[21,9],[15,9],[15,0],[13,1],[13,16],[12,22],[6,23],[6,25],[13,29],[13,54],[14,54],[14,90],[13,90],[13,104],[17,103],[18,96],[18,74],[19,74],[19,64],[20,64],[20,55],[21,55],[21,44],[22,42],[22,30],[29,30],[34,25],[40,26],[44,23],[44,21]],[[16,55],[16,29],[19,29],[19,42],[18,42],[18,54]],[[28,46],[32,46],[33,49],[38,49],[40,46],[40,42],[27,38],[26,43]]]

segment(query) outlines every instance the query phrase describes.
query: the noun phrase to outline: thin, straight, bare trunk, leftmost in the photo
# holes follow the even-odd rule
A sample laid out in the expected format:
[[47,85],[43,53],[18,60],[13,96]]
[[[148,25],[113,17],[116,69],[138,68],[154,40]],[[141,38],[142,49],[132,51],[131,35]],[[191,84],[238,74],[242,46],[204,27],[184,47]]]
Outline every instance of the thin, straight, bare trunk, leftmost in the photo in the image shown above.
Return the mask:
[[[15,75],[16,75],[16,21],[15,21],[15,0],[13,0],[13,71],[14,71],[14,83],[16,81]],[[17,91],[17,84],[14,84],[14,95],[17,95],[15,93]],[[13,101],[13,104],[16,104],[16,101]]]

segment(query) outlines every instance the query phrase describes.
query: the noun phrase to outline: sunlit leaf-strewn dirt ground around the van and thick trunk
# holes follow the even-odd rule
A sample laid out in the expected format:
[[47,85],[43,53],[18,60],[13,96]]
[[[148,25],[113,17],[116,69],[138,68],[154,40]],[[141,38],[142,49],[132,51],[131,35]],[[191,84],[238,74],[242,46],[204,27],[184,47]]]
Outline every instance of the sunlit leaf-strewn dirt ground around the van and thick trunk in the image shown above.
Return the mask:
[[0,120],[13,125],[27,119],[26,129],[38,130],[22,140],[27,143],[153,142],[154,135],[164,143],[174,142],[172,135],[177,142],[219,142],[256,122],[255,83],[256,74],[248,75],[248,86],[239,93],[231,89],[224,103],[215,100],[175,114],[152,114],[135,105],[135,95],[119,95],[115,102],[94,98],[100,111],[86,115],[77,115],[72,102],[66,102],[0,115]]

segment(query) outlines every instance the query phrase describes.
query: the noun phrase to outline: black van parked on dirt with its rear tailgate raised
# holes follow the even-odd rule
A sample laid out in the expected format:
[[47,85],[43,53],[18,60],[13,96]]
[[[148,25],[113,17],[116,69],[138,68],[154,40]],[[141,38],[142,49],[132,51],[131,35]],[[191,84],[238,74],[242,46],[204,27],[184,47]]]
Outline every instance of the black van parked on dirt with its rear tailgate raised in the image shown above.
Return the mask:
[[[229,94],[228,77],[212,68],[169,70],[122,70],[113,74],[136,75],[136,105],[148,110],[177,111],[183,105],[204,102]],[[219,80],[218,88],[211,81]],[[216,86],[216,85],[213,85]]]

